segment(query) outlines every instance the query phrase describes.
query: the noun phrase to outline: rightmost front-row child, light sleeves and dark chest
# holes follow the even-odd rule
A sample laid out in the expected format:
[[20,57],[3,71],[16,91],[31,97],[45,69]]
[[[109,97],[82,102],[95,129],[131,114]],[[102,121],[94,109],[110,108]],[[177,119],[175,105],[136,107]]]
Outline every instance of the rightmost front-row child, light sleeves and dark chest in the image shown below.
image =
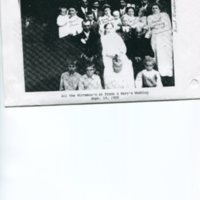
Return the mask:
[[138,73],[136,77],[136,88],[144,87],[162,87],[160,73],[154,70],[154,58],[146,56],[144,59],[145,69]]

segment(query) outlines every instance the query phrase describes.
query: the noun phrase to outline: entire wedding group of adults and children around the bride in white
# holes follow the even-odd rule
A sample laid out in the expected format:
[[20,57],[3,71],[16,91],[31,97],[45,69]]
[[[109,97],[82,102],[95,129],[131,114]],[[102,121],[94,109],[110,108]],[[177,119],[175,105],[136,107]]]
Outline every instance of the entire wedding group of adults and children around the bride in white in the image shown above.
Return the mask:
[[80,45],[83,59],[81,70],[67,63],[60,90],[173,86],[172,25],[163,2],[119,0],[118,9],[107,3],[100,9],[101,1],[81,0],[79,7],[60,7],[58,36]]

